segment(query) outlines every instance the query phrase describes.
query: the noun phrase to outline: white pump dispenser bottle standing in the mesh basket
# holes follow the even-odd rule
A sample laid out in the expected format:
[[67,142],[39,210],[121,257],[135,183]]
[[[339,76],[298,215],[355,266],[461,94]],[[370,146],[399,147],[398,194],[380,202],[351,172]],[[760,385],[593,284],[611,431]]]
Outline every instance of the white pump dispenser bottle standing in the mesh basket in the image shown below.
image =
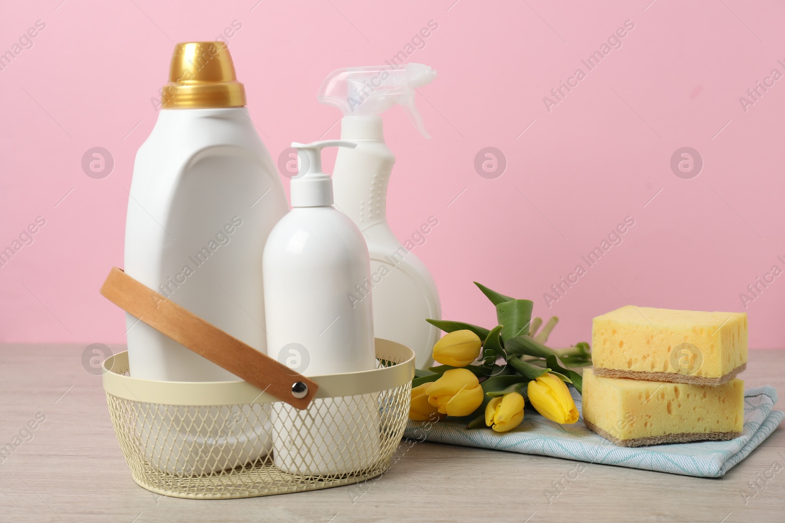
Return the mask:
[[[331,146],[355,143],[292,143],[299,159],[292,209],[270,233],[263,262],[268,354],[305,376],[376,369],[371,300],[348,298],[369,278],[368,249],[333,207],[332,180],[321,165],[322,147]],[[379,454],[378,393],[316,399],[307,410],[278,401],[272,440],[276,467],[290,474],[370,467]]]

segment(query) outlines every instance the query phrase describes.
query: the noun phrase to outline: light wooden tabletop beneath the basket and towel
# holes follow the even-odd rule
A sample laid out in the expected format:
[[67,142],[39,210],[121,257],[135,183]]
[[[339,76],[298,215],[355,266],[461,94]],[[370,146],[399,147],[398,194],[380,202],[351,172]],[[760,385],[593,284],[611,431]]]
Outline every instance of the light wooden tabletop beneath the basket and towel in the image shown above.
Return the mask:
[[[365,487],[220,501],[158,496],[131,479],[100,376],[82,367],[84,348],[0,346],[0,446],[37,412],[46,416],[31,439],[22,434],[29,441],[0,456],[0,521],[785,521],[783,427],[721,479],[417,443]],[[753,350],[740,377],[785,394],[783,372],[785,350]],[[549,499],[554,481],[566,486]]]

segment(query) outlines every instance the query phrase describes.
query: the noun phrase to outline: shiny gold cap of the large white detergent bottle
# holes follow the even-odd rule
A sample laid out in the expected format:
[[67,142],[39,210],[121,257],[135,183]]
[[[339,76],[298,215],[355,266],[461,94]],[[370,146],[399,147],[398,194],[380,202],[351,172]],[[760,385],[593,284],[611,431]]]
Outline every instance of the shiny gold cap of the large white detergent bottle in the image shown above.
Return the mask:
[[177,44],[163,86],[161,107],[196,109],[243,107],[245,88],[237,82],[232,56],[224,42]]

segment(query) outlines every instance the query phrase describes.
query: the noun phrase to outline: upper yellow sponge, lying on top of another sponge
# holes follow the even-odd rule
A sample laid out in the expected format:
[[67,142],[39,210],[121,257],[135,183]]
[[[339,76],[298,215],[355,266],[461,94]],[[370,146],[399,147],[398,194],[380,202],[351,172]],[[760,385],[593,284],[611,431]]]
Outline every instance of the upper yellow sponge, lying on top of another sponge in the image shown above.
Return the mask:
[[594,373],[719,385],[747,367],[747,314],[627,305],[593,319]]

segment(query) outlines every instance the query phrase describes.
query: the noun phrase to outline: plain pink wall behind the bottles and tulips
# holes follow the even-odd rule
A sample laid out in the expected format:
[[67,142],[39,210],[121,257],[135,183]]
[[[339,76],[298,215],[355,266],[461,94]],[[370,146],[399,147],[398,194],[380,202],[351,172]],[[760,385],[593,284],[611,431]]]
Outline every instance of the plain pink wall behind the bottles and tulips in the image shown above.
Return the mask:
[[[2,342],[124,341],[121,312],[97,291],[122,266],[133,158],[174,42],[242,24],[229,49],[276,161],[292,140],[338,136],[338,111],[316,102],[327,73],[382,64],[435,20],[408,59],[439,73],[418,95],[433,140],[400,108],[386,114],[385,135],[397,157],[393,231],[404,239],[439,220],[414,252],[445,318],[495,325],[477,280],[558,315],[554,345],[589,340],[591,318],[629,300],[747,311],[750,347],[783,347],[785,276],[747,308],[739,298],[773,265],[785,269],[775,213],[785,79],[747,111],[739,102],[773,68],[785,73],[781,2],[60,2],[0,4],[0,53],[46,24],[0,71],[0,249],[46,219],[0,267]],[[626,20],[634,29],[622,47],[588,71],[581,60]],[[548,111],[543,97],[579,67],[586,78]],[[82,172],[90,147],[111,151],[110,176]],[[476,172],[484,147],[506,157],[502,176]],[[689,180],[670,169],[680,147],[703,158]],[[543,293],[586,268],[581,256],[625,216],[635,224],[623,243],[549,310]]]

